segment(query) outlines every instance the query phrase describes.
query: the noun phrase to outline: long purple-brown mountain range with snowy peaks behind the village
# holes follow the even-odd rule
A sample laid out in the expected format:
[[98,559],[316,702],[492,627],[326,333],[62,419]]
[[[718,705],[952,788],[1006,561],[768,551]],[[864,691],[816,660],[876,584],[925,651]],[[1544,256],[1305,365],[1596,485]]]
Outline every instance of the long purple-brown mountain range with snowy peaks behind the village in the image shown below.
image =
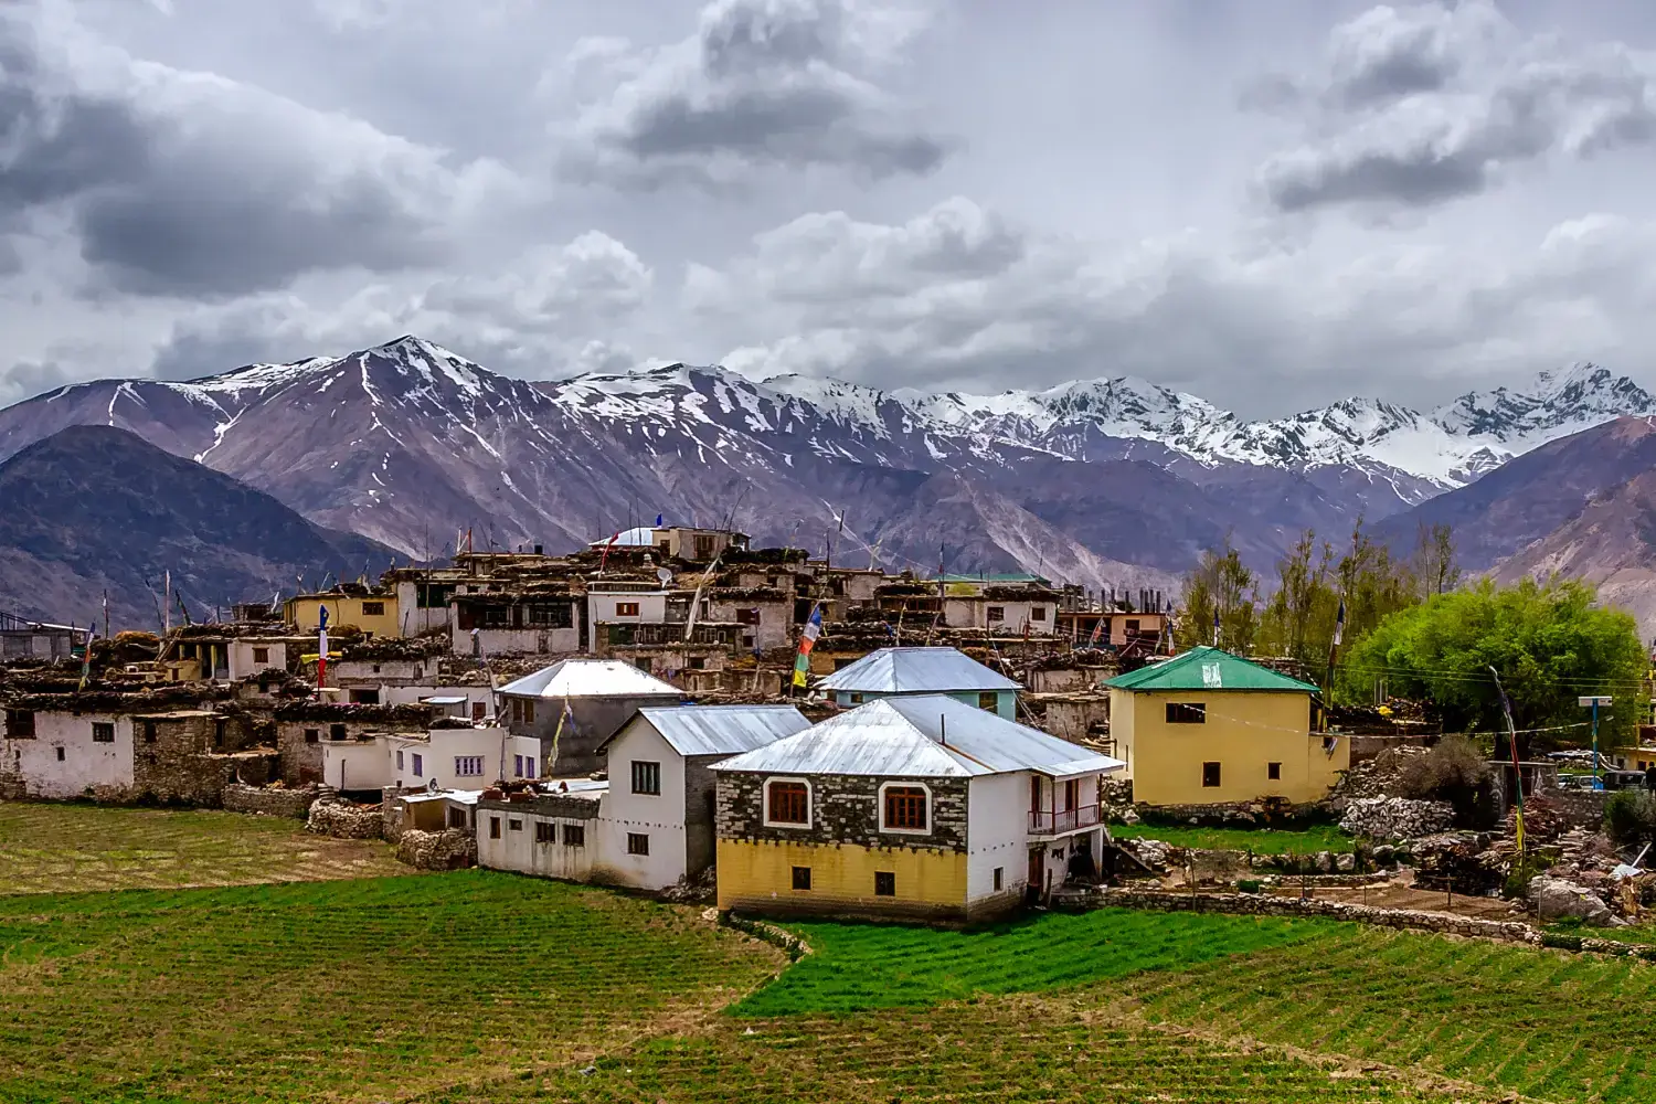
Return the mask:
[[1595,364],[1434,410],[1348,399],[1250,422],[1131,377],[999,396],[686,364],[528,382],[406,336],[60,387],[0,410],[0,458],[114,425],[409,558],[452,551],[462,526],[479,548],[551,551],[661,513],[841,563],[1172,591],[1227,535],[1264,569],[1307,526],[1413,535],[1414,511],[1495,487],[1514,457],[1648,414],[1656,399]]

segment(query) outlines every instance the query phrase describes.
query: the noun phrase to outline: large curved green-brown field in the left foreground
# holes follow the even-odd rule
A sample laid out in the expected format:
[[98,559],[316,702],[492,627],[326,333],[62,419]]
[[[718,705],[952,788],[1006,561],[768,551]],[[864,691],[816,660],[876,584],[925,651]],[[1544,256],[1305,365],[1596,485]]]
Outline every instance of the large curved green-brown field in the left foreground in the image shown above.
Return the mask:
[[402,1099],[692,1026],[780,962],[694,910],[485,871],[8,897],[0,1099]]

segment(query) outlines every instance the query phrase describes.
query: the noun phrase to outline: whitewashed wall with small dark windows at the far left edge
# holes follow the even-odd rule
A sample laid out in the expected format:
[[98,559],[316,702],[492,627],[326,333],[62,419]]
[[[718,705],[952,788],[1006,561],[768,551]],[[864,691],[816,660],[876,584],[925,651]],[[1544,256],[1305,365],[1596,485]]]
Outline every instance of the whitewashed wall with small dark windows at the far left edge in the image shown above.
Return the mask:
[[116,798],[132,785],[131,717],[7,710],[5,718],[0,773],[22,778],[28,796],[79,798],[91,791]]

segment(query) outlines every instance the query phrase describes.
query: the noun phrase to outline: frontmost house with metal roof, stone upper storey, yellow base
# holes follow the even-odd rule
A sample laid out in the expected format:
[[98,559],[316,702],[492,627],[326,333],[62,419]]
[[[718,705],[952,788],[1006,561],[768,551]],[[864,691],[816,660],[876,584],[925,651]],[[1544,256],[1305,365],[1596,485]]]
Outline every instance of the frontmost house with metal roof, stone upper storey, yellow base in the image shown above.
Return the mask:
[[952,697],[869,702],[712,765],[719,909],[1004,915],[1096,872],[1119,768]]

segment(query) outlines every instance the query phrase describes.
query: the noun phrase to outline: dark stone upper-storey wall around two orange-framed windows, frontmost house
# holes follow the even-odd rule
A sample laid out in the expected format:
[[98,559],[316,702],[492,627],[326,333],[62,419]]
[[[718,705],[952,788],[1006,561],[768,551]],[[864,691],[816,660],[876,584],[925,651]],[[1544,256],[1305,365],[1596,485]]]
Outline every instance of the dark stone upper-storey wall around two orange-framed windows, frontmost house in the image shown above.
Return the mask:
[[927,778],[931,831],[883,834],[879,786],[901,778],[868,775],[816,775],[811,783],[811,828],[767,828],[763,785],[768,775],[722,771],[714,814],[719,839],[772,842],[841,842],[863,846],[932,847],[965,851],[965,780]]

